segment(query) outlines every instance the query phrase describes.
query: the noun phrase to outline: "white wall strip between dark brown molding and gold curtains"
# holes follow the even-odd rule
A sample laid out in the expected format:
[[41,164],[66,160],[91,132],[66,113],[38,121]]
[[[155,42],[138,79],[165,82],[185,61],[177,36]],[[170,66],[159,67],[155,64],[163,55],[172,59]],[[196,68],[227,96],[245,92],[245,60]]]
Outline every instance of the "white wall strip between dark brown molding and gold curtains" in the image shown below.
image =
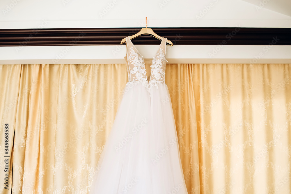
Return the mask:
[[[136,45],[151,63],[158,45]],[[291,46],[175,45],[166,46],[167,63],[291,63]],[[125,63],[122,46],[0,47],[0,64]]]

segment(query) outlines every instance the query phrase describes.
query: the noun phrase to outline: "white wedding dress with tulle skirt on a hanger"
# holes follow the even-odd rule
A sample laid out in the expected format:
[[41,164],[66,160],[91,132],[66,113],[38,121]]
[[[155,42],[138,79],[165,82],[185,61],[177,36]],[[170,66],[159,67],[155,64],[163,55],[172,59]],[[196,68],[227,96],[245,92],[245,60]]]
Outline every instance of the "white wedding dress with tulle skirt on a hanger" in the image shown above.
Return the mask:
[[166,40],[162,39],[147,79],[144,60],[126,37],[128,82],[90,193],[187,194],[165,83]]

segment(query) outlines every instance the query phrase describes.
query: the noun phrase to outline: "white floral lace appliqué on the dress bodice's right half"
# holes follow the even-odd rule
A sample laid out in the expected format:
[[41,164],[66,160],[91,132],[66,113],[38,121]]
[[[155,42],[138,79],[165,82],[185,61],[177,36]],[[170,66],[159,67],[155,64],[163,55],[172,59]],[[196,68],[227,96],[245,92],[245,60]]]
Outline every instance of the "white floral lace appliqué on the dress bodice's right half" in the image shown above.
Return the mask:
[[166,55],[163,51],[164,49],[160,48],[157,55],[152,59],[152,68],[151,76],[152,79],[149,82],[150,87],[155,86],[158,88],[159,83],[165,83],[165,72],[163,64],[166,63]]

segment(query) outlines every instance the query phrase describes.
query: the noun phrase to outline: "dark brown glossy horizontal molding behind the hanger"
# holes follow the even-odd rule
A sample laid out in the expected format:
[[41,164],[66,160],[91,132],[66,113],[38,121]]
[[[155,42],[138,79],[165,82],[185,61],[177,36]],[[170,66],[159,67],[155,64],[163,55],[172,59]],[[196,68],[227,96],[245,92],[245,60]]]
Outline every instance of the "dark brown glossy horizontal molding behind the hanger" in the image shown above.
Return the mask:
[[[141,28],[0,29],[0,46],[121,45]],[[291,28],[152,28],[173,45],[291,45]],[[159,45],[143,35],[135,45]],[[123,44],[125,45],[125,44]]]

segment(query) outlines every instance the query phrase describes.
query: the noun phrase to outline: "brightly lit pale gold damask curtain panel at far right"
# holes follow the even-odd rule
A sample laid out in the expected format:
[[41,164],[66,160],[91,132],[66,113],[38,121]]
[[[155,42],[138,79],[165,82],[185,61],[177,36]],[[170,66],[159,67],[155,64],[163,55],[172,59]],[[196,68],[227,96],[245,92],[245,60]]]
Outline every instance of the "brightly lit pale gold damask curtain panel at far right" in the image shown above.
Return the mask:
[[290,193],[291,65],[194,65],[200,193]]

